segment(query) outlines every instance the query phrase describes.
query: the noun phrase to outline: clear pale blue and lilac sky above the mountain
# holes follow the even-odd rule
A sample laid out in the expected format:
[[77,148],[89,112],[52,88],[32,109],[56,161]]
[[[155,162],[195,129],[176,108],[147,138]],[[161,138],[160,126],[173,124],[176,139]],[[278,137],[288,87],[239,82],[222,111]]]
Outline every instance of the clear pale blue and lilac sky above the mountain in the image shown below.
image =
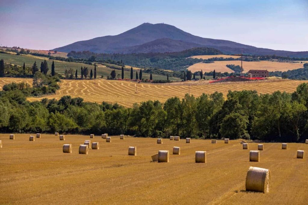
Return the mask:
[[308,51],[308,0],[0,0],[0,46],[49,50],[144,22],[260,48]]

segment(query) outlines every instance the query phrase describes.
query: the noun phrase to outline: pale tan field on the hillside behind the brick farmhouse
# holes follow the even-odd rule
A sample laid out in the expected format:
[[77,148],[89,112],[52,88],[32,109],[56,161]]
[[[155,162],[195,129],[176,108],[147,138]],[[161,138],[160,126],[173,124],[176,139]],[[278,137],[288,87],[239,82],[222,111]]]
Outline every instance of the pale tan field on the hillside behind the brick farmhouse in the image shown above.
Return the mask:
[[[234,71],[229,69],[226,65],[241,65],[241,61],[214,61],[214,63],[196,63],[188,67],[191,72],[202,71],[211,72],[215,70],[216,72],[228,72],[233,73]],[[261,69],[268,71],[288,71],[298,68],[303,68],[304,62],[296,63],[281,63],[273,61],[243,61],[244,73],[248,72],[250,69]]]

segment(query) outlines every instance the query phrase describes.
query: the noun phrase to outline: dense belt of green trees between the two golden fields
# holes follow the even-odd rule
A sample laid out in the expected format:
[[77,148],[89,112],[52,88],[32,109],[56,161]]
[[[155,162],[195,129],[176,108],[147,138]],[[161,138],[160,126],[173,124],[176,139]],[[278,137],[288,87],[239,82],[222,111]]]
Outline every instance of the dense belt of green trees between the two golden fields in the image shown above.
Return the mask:
[[308,84],[290,93],[258,95],[256,91],[186,94],[141,102],[132,108],[83,102],[63,96],[59,101],[28,102],[31,95],[54,92],[56,77],[34,74],[34,84],[11,83],[0,91],[0,132],[126,133],[136,136],[244,138],[298,142],[308,134]]

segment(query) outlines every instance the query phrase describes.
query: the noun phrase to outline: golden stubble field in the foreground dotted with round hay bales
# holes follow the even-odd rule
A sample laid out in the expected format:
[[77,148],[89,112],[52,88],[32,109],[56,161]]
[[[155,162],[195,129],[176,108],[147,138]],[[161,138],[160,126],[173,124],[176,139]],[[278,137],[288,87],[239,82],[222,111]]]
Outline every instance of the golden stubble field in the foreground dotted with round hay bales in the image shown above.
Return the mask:
[[[249,162],[249,151],[240,140],[224,144],[218,140],[170,141],[156,144],[152,138],[100,136],[99,150],[78,154],[79,144],[89,136],[42,135],[29,141],[30,134],[16,134],[9,140],[1,134],[0,202],[2,204],[306,204],[308,160],[297,159],[298,149],[307,144],[263,143],[260,162]],[[72,144],[72,153],[62,145]],[[128,147],[137,156],[128,156]],[[172,155],[173,146],[181,148]],[[169,150],[169,163],[152,162],[158,150]],[[195,163],[195,151],[207,152],[207,163]],[[171,152],[171,153],[170,153]],[[246,192],[249,166],[271,171],[269,193]]]

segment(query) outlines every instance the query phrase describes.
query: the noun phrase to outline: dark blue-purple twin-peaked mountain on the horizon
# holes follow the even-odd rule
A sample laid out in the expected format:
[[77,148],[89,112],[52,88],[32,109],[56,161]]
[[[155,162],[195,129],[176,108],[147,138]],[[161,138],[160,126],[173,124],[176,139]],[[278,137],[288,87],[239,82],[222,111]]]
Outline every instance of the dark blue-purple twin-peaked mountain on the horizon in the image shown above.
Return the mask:
[[78,41],[53,50],[70,52],[89,50],[94,53],[144,53],[176,52],[193,47],[212,47],[225,54],[245,53],[256,55],[278,55],[290,57],[308,57],[308,51],[292,52],[257,48],[241,43],[202,38],[189,34],[168,24],[143,23],[136,28],[115,36],[97,37]]

